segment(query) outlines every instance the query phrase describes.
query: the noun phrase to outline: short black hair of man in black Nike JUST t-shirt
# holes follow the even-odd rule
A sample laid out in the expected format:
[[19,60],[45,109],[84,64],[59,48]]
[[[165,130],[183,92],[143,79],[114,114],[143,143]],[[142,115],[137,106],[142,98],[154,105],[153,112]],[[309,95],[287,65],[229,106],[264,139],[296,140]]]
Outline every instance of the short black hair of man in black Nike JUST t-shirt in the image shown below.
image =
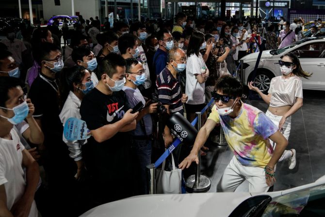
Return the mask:
[[116,67],[125,67],[125,60],[121,55],[109,53],[105,56],[97,66],[97,77],[101,79],[103,74],[107,74],[110,78],[116,73]]

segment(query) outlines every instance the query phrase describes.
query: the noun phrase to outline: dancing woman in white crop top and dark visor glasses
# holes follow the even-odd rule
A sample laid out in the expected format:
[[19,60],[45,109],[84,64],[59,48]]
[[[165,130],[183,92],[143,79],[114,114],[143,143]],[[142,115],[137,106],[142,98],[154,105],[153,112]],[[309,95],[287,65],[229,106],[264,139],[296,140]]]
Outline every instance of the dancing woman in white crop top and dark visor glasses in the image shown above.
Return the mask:
[[[266,116],[279,126],[280,132],[289,139],[291,129],[291,116],[303,105],[302,81],[300,77],[309,78],[311,74],[303,71],[298,57],[293,53],[281,56],[279,61],[281,74],[271,80],[268,95],[263,94],[259,88],[248,83],[250,90],[256,91],[260,97],[269,104]],[[273,148],[276,144],[270,141]],[[289,159],[289,169],[296,165],[295,150],[284,150],[279,161]]]

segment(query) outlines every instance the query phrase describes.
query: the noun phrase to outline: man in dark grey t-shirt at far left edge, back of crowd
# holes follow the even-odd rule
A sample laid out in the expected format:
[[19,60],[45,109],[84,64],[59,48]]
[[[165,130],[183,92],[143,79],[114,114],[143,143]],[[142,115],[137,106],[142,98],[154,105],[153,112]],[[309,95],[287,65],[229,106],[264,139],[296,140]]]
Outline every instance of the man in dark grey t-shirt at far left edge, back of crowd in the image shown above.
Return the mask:
[[16,39],[16,33],[12,27],[8,27],[5,32],[7,38],[2,39],[1,43],[7,46],[8,50],[12,53],[12,57],[16,60],[16,65],[19,66],[22,63],[22,56],[27,48],[21,40]]

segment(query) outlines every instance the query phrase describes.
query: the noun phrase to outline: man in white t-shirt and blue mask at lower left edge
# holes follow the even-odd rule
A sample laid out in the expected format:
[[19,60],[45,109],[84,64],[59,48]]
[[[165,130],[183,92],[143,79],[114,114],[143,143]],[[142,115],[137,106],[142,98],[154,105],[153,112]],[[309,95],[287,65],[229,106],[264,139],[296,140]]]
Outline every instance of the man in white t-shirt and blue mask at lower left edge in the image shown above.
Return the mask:
[[38,164],[13,128],[26,117],[31,118],[31,100],[24,99],[22,85],[17,78],[0,77],[0,210],[3,216],[37,217],[34,195],[39,181]]

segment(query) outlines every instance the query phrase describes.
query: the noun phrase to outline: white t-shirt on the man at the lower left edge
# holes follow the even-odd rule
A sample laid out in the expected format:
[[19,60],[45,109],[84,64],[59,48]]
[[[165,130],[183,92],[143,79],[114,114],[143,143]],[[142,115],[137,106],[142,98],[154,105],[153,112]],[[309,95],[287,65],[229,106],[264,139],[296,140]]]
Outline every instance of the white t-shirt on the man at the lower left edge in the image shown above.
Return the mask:
[[[0,185],[4,184],[9,210],[23,196],[26,187],[22,168],[22,151],[25,147],[14,129],[11,129],[10,134],[11,140],[0,138]],[[33,201],[29,217],[37,216],[36,204]]]

